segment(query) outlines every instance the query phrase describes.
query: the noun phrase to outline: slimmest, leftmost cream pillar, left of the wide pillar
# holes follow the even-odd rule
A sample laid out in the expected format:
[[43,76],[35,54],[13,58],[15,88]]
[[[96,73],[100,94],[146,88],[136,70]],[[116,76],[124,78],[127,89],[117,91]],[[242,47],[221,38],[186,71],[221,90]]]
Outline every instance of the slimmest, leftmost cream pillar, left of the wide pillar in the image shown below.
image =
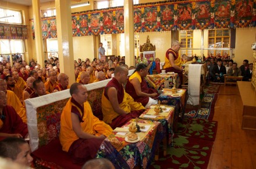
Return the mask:
[[37,63],[44,65],[44,50],[42,47],[42,23],[40,12],[40,1],[32,1],[34,31],[35,31],[35,53],[37,54]]

